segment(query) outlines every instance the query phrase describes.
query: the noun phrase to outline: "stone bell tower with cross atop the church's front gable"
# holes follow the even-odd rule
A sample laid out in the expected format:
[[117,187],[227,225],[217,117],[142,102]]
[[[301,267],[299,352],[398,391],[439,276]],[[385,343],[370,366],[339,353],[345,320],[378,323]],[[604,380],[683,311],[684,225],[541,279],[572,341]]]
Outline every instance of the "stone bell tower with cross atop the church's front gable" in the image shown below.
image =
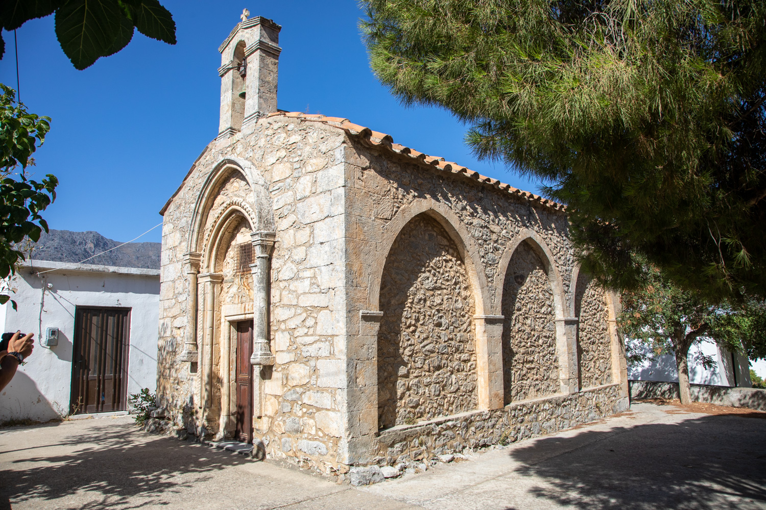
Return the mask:
[[280,30],[270,19],[242,11],[218,51],[221,53],[221,122],[218,138],[241,132],[244,126],[277,111]]

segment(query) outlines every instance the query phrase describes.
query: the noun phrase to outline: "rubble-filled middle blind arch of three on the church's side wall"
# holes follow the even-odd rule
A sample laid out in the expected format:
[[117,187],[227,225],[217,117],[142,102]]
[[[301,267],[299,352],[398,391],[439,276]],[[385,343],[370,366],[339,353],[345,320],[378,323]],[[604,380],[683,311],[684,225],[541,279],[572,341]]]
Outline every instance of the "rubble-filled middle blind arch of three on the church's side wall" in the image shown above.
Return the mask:
[[551,262],[532,239],[512,253],[502,287],[504,401],[553,395],[561,389],[557,304]]

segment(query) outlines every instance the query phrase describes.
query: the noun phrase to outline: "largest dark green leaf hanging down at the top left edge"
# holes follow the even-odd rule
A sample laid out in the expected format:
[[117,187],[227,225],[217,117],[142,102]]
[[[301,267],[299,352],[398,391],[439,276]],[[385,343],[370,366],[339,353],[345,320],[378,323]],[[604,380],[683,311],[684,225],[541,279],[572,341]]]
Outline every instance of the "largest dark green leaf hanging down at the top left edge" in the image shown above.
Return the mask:
[[109,54],[123,11],[116,0],[67,0],[56,11],[56,36],[76,69]]

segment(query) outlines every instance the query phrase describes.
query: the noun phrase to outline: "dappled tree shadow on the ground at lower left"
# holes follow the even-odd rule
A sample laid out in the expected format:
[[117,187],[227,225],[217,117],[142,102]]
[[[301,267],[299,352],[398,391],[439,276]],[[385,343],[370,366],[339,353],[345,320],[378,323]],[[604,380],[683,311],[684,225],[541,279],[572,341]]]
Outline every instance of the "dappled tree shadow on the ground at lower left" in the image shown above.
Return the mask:
[[[49,447],[59,446],[75,449],[47,455]],[[3,453],[37,448],[11,447]],[[39,456],[4,463],[5,469],[0,471],[0,510],[11,508],[11,502],[50,501],[77,492],[90,492],[78,508],[165,505],[163,493],[181,492],[191,482],[210,479],[211,475],[205,473],[250,462],[244,456],[146,434],[124,424],[90,427],[87,434],[64,437],[39,447],[39,451]],[[191,477],[183,476],[189,473]]]

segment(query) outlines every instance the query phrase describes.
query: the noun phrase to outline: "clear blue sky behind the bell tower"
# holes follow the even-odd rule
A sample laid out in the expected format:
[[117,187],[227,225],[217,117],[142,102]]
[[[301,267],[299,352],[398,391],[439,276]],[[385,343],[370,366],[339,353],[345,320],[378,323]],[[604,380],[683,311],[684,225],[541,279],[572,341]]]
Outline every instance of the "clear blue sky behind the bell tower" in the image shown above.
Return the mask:
[[[218,134],[218,46],[245,7],[282,25],[280,109],[345,117],[538,193],[537,184],[502,164],[477,161],[463,144],[465,126],[448,112],[404,108],[375,80],[355,2],[162,4],[173,14],[178,44],[136,32],[125,49],[83,71],[61,51],[52,16],[18,29],[21,101],[53,119],[33,169],[61,181],[45,213],[51,228],[95,230],[128,241],[162,221],[160,208]],[[4,31],[3,37],[0,82],[15,88],[13,33]],[[160,229],[140,240],[159,242]]]

